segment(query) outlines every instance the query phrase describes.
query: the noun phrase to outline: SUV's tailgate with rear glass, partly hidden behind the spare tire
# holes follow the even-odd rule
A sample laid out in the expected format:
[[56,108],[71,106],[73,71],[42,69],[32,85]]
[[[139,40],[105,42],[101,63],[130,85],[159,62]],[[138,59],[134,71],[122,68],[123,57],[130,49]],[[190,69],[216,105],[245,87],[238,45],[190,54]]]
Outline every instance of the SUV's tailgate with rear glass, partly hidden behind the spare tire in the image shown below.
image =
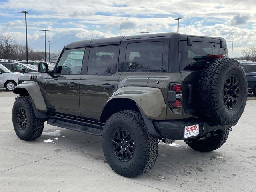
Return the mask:
[[180,40],[179,66],[182,75],[183,118],[198,117],[197,87],[200,74],[204,69],[208,54],[224,54],[228,57],[226,42],[220,48],[220,40],[212,38],[192,37],[192,46],[188,46],[187,38]]

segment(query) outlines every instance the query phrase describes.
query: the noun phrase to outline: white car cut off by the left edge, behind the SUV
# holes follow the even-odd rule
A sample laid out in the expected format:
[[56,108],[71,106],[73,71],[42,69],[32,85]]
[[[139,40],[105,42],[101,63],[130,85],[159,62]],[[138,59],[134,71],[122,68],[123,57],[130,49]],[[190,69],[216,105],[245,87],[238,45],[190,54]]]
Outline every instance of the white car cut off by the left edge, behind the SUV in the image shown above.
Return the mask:
[[22,75],[22,73],[11,72],[0,64],[0,87],[5,87],[6,90],[12,91],[18,84],[18,78]]

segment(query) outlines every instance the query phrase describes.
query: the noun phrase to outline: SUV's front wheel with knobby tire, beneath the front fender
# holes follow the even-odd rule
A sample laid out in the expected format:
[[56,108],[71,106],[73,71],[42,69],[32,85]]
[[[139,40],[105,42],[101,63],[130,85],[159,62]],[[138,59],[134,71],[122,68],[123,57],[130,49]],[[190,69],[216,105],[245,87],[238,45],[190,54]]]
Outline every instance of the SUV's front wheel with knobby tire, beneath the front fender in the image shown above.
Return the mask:
[[[22,110],[21,113],[19,110]],[[25,112],[25,113],[24,113]],[[19,126],[20,116],[26,118],[26,126]],[[29,96],[21,96],[16,99],[12,108],[12,124],[16,135],[25,141],[35,140],[43,132],[44,120],[36,118]]]

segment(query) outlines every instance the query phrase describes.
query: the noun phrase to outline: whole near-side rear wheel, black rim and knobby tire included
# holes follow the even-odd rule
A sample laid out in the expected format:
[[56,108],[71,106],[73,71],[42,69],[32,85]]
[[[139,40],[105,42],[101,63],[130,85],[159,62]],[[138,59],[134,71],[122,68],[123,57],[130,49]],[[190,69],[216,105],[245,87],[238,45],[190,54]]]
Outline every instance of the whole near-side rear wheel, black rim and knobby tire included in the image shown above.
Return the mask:
[[135,177],[150,170],[158,154],[156,137],[148,133],[141,114],[130,110],[108,118],[102,148],[110,167],[124,177]]

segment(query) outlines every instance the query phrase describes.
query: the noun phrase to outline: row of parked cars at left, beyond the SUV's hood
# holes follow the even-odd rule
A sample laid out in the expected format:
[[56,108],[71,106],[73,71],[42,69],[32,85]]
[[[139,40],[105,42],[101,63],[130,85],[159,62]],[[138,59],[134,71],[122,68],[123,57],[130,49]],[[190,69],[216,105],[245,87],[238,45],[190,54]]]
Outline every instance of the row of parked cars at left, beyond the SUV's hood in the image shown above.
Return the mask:
[[0,87],[12,91],[18,84],[18,78],[24,73],[38,72],[38,64],[46,63],[48,68],[53,70],[53,63],[45,61],[0,61]]

